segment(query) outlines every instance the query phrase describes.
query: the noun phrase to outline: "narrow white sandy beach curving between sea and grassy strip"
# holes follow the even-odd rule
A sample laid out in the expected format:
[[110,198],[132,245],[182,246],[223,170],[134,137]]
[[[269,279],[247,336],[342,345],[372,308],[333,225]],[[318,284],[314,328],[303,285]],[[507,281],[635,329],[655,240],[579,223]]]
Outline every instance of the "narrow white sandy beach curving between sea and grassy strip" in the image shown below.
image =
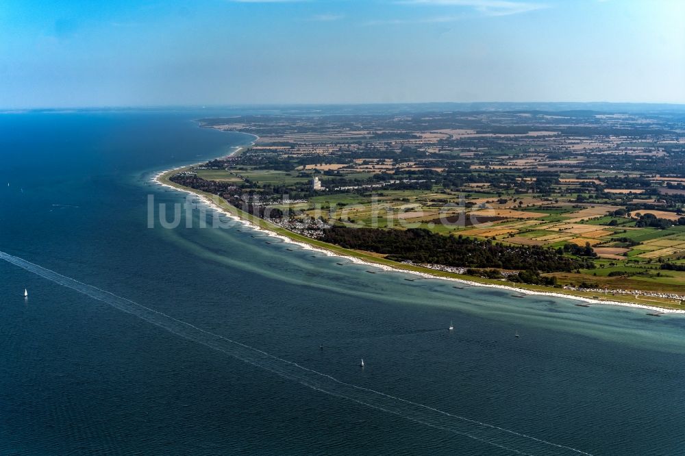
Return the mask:
[[[254,142],[252,143],[254,144]],[[247,146],[249,147],[249,146]],[[239,147],[234,151],[233,153],[236,153],[243,147]],[[227,155],[233,155],[233,153]],[[250,220],[245,220],[244,218],[240,218],[234,214],[231,214],[230,212],[227,212],[224,210],[222,207],[214,203],[214,201],[211,201],[208,197],[206,197],[203,194],[200,194],[199,192],[196,192],[192,188],[187,188],[187,187],[181,187],[181,186],[172,186],[169,183],[166,183],[162,181],[162,176],[166,175],[167,173],[171,173],[173,171],[179,171],[183,170],[185,168],[188,168],[189,166],[194,166],[194,165],[186,165],[186,166],[179,166],[177,168],[170,168],[166,169],[163,171],[160,171],[159,173],[155,174],[152,178],[153,183],[157,184],[158,186],[166,187],[166,188],[171,188],[172,190],[177,190],[179,192],[186,192],[188,194],[192,194],[195,197],[197,197],[200,201],[208,205],[209,207],[212,208],[212,210],[216,210],[223,216],[226,216],[227,218],[231,218],[232,220],[235,220],[237,223],[241,223],[242,225],[245,225],[245,227],[248,227],[249,229],[252,229],[253,231],[259,231],[261,233],[266,234],[267,236],[270,236],[272,238],[277,238],[279,240],[282,240],[283,242],[287,242],[288,244],[296,245],[301,247],[301,249],[306,249],[312,252],[318,252],[323,255],[331,256],[331,257],[340,257],[342,259],[347,259],[349,262],[356,263],[356,264],[363,264],[364,266],[369,266],[371,268],[377,268],[381,269],[384,271],[389,271],[389,272],[396,272],[396,273],[406,273],[406,274],[412,274],[416,275],[418,277],[421,277],[423,279],[440,279],[440,280],[447,280],[451,282],[456,282],[456,283],[461,283],[464,285],[469,285],[469,286],[475,286],[475,287],[484,287],[484,288],[498,288],[500,290],[508,290],[510,292],[516,292],[516,293],[521,293],[521,294],[530,294],[530,295],[538,295],[538,296],[551,296],[555,298],[561,298],[561,299],[573,299],[574,301],[581,301],[582,303],[590,304],[590,305],[619,305],[623,307],[632,307],[636,309],[645,309],[649,310],[651,312],[655,312],[657,314],[685,314],[685,309],[669,309],[667,307],[657,307],[657,306],[652,306],[652,305],[641,305],[641,304],[634,304],[634,303],[626,303],[622,301],[609,301],[609,300],[599,300],[599,299],[591,299],[591,298],[586,298],[584,296],[575,296],[573,294],[564,294],[564,293],[555,293],[555,292],[541,292],[541,291],[536,291],[536,290],[527,290],[525,288],[518,288],[515,286],[508,286],[508,285],[499,285],[495,283],[480,283],[476,281],[471,281],[468,279],[458,279],[456,277],[443,277],[440,275],[434,275],[428,272],[420,272],[420,271],[415,271],[415,270],[407,270],[407,269],[402,269],[402,268],[393,268],[392,266],[388,266],[386,264],[378,264],[378,263],[373,263],[373,262],[367,262],[364,261],[363,259],[360,259],[358,257],[353,257],[350,255],[342,255],[340,253],[334,252],[334,251],[329,251],[327,249],[321,249],[318,246],[313,246],[311,244],[307,244],[306,242],[299,242],[297,240],[293,240],[291,238],[288,238],[288,236],[283,236],[282,234],[276,233],[275,231],[271,231],[269,229],[264,229],[263,227],[260,227],[254,223],[252,223]]]

